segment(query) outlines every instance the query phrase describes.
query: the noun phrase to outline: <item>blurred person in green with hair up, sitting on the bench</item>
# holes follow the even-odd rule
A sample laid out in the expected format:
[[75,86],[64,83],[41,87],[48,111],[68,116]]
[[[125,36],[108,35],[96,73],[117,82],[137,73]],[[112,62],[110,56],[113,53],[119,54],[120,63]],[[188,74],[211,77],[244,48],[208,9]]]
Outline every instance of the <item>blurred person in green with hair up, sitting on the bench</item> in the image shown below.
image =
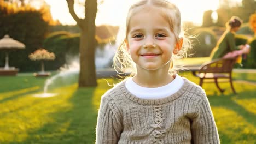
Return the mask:
[[241,56],[242,54],[249,53],[249,45],[236,46],[235,44],[235,32],[238,31],[242,24],[236,16],[232,16],[231,19],[226,22],[226,31],[220,37],[217,46],[213,49],[211,58],[232,58]]

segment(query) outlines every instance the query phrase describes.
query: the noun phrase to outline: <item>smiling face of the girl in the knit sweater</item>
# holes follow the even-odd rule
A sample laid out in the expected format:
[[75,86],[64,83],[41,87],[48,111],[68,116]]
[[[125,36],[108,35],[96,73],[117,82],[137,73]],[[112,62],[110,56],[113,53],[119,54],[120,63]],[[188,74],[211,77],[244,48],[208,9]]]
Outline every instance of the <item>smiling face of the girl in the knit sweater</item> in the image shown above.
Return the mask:
[[170,67],[175,38],[160,11],[155,7],[143,7],[130,19],[126,45],[138,72]]

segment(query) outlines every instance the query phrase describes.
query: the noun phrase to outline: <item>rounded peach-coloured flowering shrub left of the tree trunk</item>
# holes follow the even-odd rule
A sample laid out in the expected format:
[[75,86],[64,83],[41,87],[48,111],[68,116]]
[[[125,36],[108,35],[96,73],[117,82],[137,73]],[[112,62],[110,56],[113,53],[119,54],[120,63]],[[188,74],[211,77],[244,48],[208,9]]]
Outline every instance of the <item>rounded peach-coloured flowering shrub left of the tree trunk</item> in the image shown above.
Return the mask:
[[55,55],[53,52],[48,52],[45,49],[38,49],[28,56],[32,61],[37,60],[54,60]]

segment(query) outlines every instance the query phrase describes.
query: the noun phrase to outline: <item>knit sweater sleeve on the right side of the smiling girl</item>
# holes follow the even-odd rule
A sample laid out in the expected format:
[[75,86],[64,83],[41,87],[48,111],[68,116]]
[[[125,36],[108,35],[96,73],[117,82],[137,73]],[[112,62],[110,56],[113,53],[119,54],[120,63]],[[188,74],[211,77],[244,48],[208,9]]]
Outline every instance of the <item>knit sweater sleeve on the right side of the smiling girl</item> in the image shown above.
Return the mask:
[[210,104],[205,94],[198,106],[198,115],[192,121],[191,132],[196,144],[220,143]]

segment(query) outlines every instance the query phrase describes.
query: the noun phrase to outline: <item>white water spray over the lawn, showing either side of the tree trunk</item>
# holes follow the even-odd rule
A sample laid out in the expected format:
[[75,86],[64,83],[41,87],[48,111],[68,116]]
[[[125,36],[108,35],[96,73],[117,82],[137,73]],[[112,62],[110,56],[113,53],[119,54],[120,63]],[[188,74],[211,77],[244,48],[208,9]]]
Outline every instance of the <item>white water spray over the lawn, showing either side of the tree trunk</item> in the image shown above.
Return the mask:
[[[110,68],[110,64],[112,64],[112,58],[114,56],[116,50],[116,46],[112,44],[106,44],[104,49],[99,47],[96,48],[95,52],[95,65],[96,70],[98,69],[108,69]],[[67,80],[64,84],[70,83],[71,80],[68,80],[68,77],[79,74],[80,71],[80,63],[79,57],[74,58],[72,62],[64,65],[60,68],[60,72],[48,79],[46,79],[44,84],[44,92],[39,94],[34,94],[34,97],[53,97],[56,96],[57,93],[48,93],[49,86],[53,85],[55,81],[62,79]],[[77,82],[77,80],[72,79],[72,81]]]

